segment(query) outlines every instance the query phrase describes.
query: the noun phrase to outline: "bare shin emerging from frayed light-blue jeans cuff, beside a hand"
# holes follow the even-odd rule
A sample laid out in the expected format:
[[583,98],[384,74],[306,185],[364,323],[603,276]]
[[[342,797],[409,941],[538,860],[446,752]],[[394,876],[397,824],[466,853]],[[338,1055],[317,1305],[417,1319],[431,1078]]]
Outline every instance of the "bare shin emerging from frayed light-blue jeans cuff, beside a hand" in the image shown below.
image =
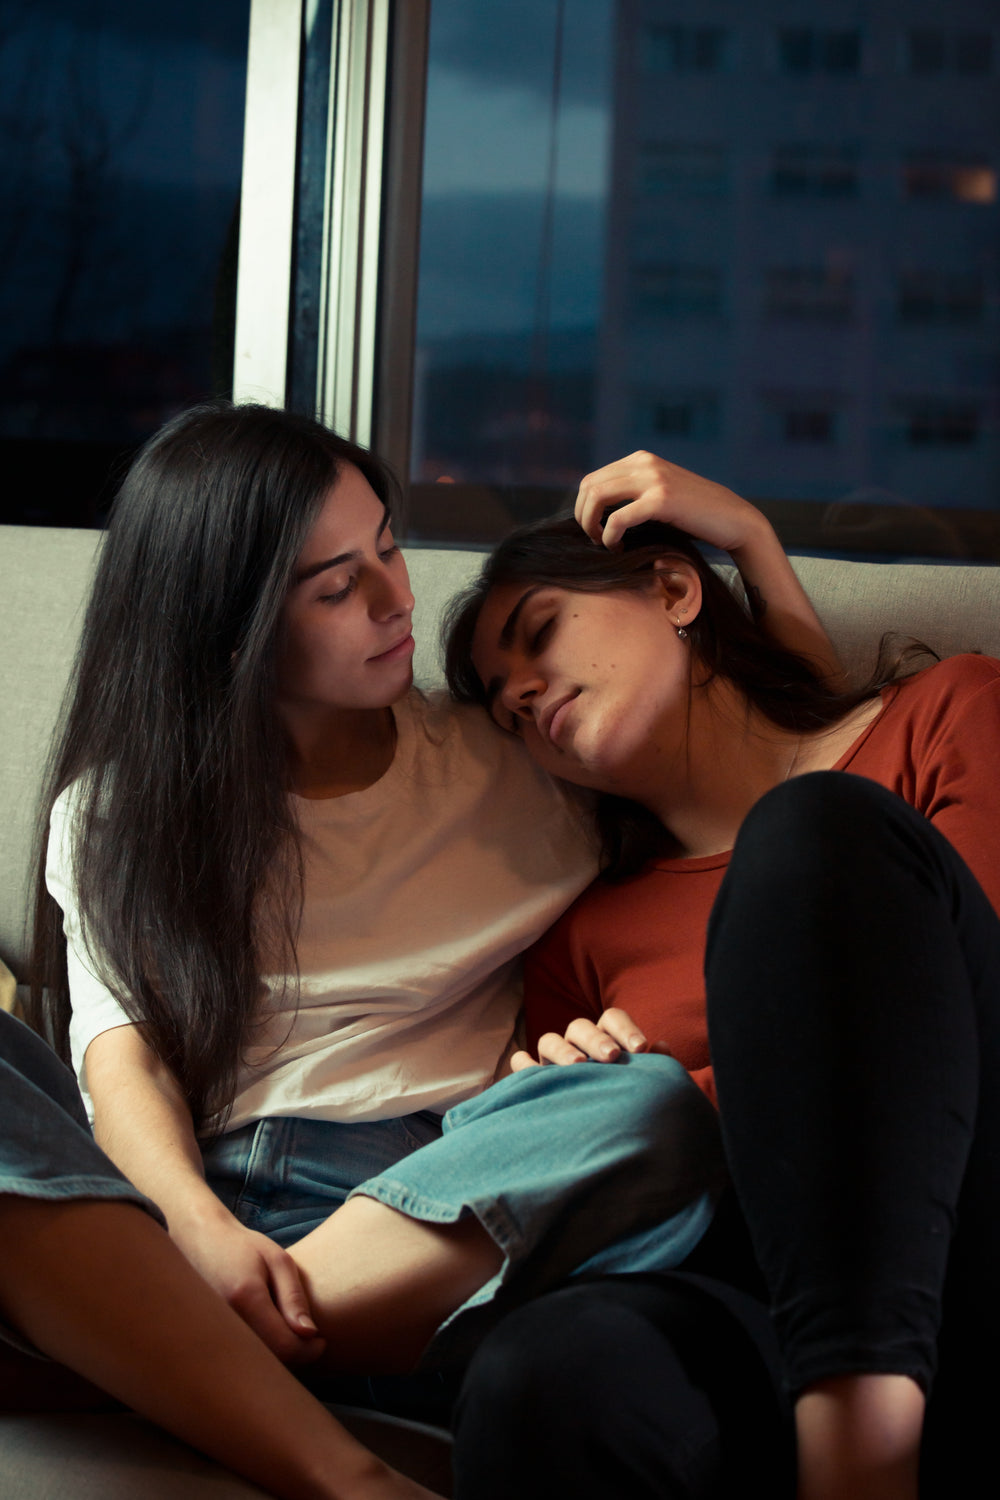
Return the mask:
[[414,1370],[435,1329],[501,1264],[472,1215],[411,1220],[375,1198],[351,1198],[289,1250],[327,1352],[340,1371]]

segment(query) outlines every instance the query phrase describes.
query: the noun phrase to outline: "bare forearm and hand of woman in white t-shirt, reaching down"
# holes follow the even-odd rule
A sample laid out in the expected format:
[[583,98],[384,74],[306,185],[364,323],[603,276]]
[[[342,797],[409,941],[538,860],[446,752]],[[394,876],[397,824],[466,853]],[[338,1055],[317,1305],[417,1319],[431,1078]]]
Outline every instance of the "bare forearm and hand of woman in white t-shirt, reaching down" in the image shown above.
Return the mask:
[[177,1080],[135,1026],[117,1026],[91,1041],[87,1082],[97,1143],[159,1204],[192,1266],[280,1359],[316,1358],[322,1340],[298,1268],[214,1196]]

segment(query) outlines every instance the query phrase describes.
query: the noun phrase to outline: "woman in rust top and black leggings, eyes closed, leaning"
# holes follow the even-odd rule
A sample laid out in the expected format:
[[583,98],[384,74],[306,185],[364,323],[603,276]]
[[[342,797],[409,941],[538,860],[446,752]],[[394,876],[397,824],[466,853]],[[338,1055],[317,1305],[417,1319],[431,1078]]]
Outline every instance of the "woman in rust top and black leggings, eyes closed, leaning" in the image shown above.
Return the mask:
[[579,506],[591,543],[555,522],[501,546],[451,684],[600,794],[619,884],[529,962],[541,1059],[673,1053],[718,1090],[739,1210],[682,1272],[576,1287],[493,1335],[459,1492],[505,1492],[511,1420],[550,1455],[523,1496],[556,1474],[574,1496],[729,1494],[748,1467],[780,1492],[781,1390],[802,1500],[916,1496],[931,1392],[924,1479],[954,1484],[996,1395],[967,1356],[997,1332],[1000,663],[837,692],[681,534],[594,544],[607,501]]

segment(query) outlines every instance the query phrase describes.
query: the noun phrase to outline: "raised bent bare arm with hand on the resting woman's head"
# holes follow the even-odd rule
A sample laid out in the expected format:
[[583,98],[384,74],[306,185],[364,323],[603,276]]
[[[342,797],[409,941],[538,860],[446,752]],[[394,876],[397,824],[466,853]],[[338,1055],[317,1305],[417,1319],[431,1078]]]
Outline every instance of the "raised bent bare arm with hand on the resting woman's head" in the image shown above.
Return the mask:
[[[609,506],[619,508],[603,526]],[[844,686],[844,669],[774,526],[732,489],[655,453],[631,453],[586,476],[576,518],[589,537],[607,548],[618,546],[630,526],[666,520],[729,552],[760,627],[778,645],[808,657],[832,687]]]

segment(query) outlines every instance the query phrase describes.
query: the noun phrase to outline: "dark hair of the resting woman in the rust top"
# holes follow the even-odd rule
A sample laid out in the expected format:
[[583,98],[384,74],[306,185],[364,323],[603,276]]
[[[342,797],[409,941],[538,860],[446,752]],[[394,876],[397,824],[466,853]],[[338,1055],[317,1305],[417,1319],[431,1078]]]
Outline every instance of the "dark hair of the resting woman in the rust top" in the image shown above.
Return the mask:
[[[625,532],[621,550],[609,552],[591,542],[570,516],[511,531],[487,558],[475,584],[453,602],[445,621],[445,672],[453,698],[462,704],[487,702],[472,666],[472,636],[490,590],[505,584],[568,588],[582,594],[645,590],[654,578],[655,562],[669,554],[690,562],[702,582],[702,608],[687,626],[700,680],[708,682],[718,676],[732,682],[780,729],[808,734],[835,724],[901,674],[910,652],[882,651],[864,687],[837,692],[808,658],[760,633],[684,531],[649,520]],[[597,824],[607,879],[625,879],[649,860],[678,852],[660,819],[627,798],[601,794]]]

